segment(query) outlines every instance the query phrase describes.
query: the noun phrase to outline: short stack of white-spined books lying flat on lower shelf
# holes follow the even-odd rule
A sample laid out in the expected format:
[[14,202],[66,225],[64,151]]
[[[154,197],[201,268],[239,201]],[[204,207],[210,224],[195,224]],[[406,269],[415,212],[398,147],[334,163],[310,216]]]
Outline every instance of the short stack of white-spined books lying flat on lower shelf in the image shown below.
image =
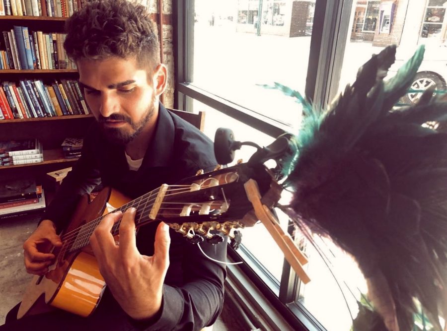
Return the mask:
[[0,141],[0,166],[43,162],[38,139]]

